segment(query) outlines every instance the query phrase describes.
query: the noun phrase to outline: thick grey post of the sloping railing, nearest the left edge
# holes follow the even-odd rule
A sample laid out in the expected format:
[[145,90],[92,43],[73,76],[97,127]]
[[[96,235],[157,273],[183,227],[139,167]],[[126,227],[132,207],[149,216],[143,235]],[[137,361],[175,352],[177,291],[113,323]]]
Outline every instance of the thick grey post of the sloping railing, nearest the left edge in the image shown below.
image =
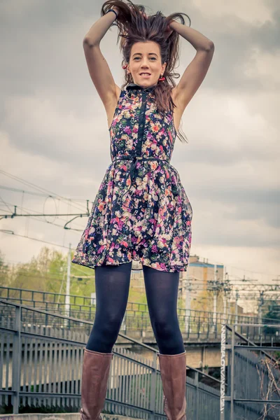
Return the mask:
[[[21,307],[15,307],[15,335],[13,336],[13,374],[12,374],[12,389],[13,389],[13,414],[18,414],[20,405],[20,370],[22,345],[20,336],[20,321],[21,321]],[[8,355],[7,355],[8,356]]]

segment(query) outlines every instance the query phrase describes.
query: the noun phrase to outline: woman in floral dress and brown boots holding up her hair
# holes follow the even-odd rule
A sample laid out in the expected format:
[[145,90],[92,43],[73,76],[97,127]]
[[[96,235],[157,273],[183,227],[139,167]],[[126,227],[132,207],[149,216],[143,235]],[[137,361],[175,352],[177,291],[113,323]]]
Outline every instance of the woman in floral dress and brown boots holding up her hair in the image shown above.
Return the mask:
[[[172,420],[186,419],[186,351],[176,302],[179,272],[188,267],[193,211],[179,173],[169,162],[181,116],[206,76],[214,43],[186,27],[183,14],[147,16],[144,6],[130,0],[108,0],[83,42],[90,76],[108,117],[112,159],[72,260],[94,268],[97,295],[83,358],[84,420],[96,420],[104,407],[132,260],[140,261],[144,271],[160,349],[165,413]],[[99,48],[112,24],[118,26],[123,52],[121,88]],[[176,85],[179,35],[197,52]],[[179,137],[183,139],[181,133]]]

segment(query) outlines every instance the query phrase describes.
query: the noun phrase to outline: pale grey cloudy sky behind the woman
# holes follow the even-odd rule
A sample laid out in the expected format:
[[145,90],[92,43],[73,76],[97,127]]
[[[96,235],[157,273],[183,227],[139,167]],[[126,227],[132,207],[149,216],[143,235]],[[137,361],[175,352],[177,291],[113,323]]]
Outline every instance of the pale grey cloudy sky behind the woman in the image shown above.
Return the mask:
[[[83,37],[102,3],[0,3],[1,214],[15,205],[18,214],[77,214],[94,200],[111,162],[110,139]],[[172,155],[193,207],[191,254],[224,264],[232,278],[272,281],[280,275],[279,0],[148,3],[148,13],[187,13],[215,44],[207,76],[183,114],[188,144],[177,138]],[[113,27],[101,49],[120,86],[116,39]],[[195,49],[183,38],[180,45],[182,75]],[[70,218],[2,219],[0,249],[9,262],[30,260],[40,241],[66,252],[87,221],[78,218],[70,225],[77,231],[64,230]]]

